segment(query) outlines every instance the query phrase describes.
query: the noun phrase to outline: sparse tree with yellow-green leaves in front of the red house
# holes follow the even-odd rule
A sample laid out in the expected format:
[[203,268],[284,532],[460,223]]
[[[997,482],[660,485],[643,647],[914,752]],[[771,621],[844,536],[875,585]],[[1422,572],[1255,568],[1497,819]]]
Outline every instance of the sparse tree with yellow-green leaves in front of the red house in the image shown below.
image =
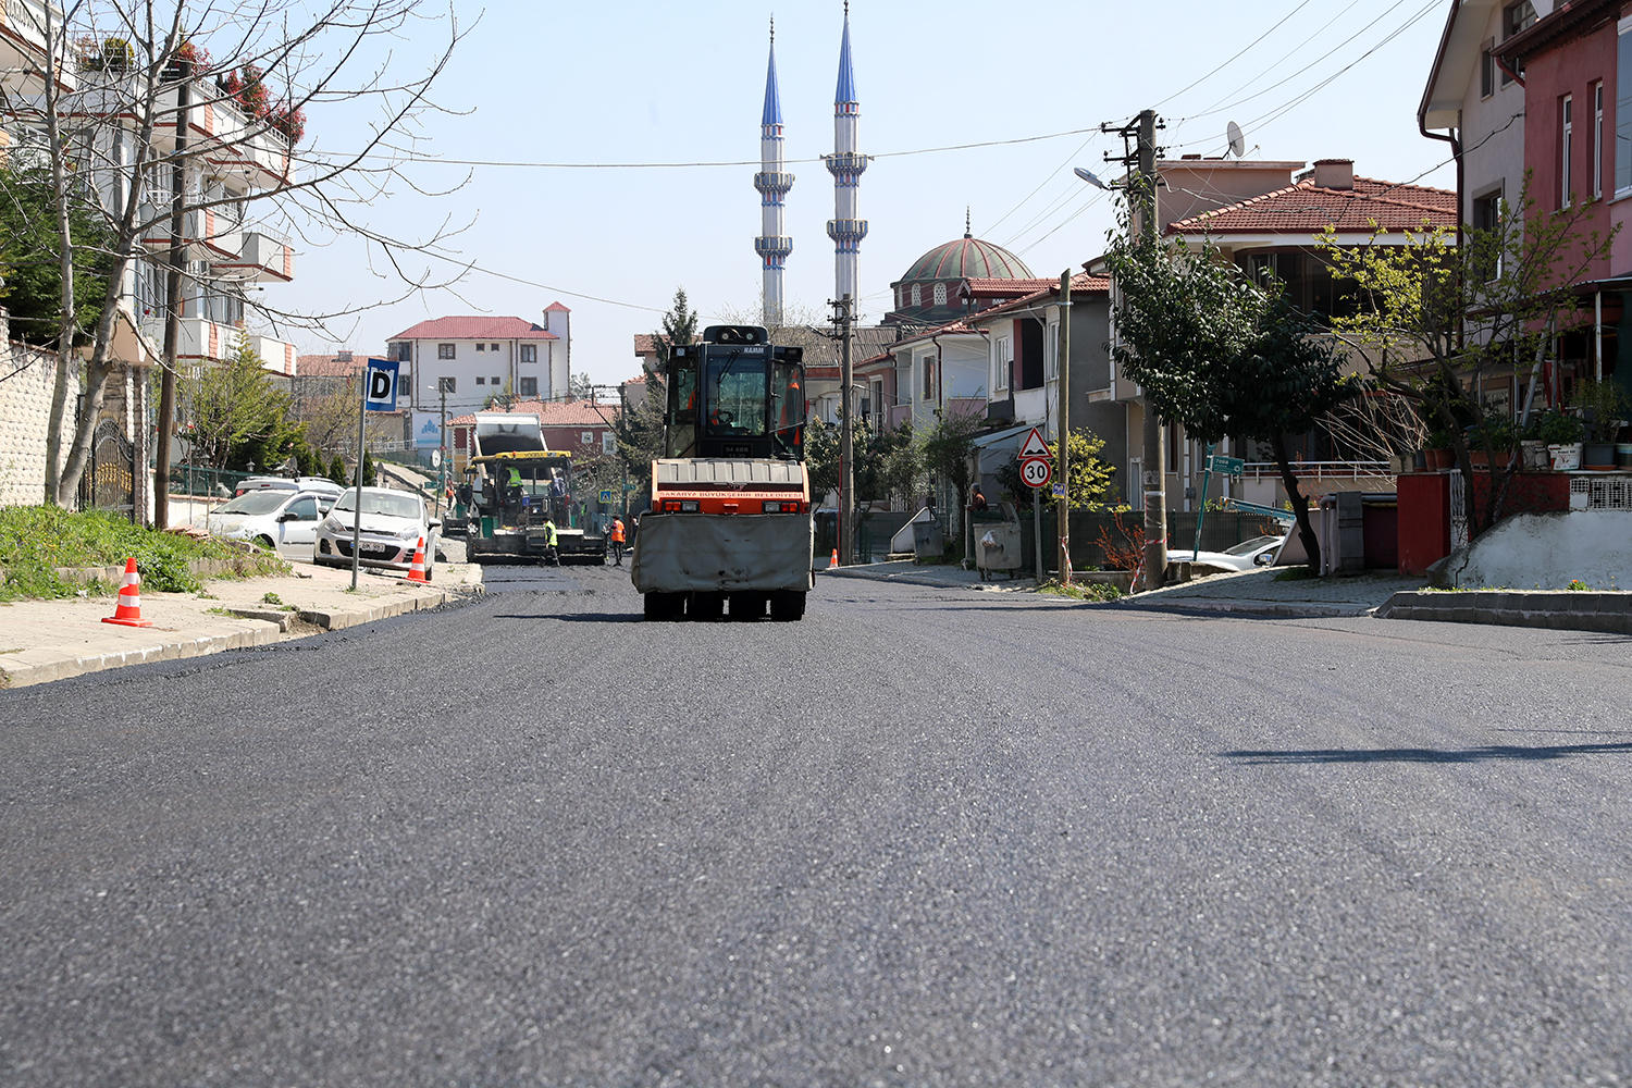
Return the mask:
[[1477,427],[1490,455],[1485,498],[1474,488],[1464,427],[1485,416],[1479,390],[1505,385],[1516,360],[1529,365],[1528,414],[1554,339],[1591,321],[1568,287],[1609,258],[1616,232],[1583,228],[1596,207],[1573,199],[1563,210],[1536,212],[1526,175],[1518,204],[1503,204],[1492,228],[1464,228],[1461,245],[1444,228],[1408,233],[1404,246],[1374,240],[1346,250],[1332,232],[1320,238],[1333,276],[1353,281],[1359,302],[1332,326],[1361,352],[1377,385],[1417,401],[1449,439],[1467,484],[1469,540],[1501,517],[1514,467],[1493,440],[1497,429]]

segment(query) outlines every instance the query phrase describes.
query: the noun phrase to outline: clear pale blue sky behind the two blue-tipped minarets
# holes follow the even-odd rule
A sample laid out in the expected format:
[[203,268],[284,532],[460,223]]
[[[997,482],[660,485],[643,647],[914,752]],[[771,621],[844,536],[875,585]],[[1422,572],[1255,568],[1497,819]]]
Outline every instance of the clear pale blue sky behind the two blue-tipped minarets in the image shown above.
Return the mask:
[[[1146,108],[1164,119],[1159,144],[1173,157],[1224,153],[1234,121],[1247,158],[1353,158],[1361,176],[1452,188],[1446,145],[1417,130],[1449,3],[855,0],[860,147],[875,157],[860,188],[862,320],[878,320],[916,258],[963,235],[966,209],[976,238],[1036,276],[1102,253],[1113,197],[1072,166],[1120,170],[1103,155],[1121,155],[1121,140],[1098,126]],[[353,214],[401,240],[460,228],[436,256],[401,261],[411,279],[457,282],[405,297],[377,250],[302,237],[295,281],[268,287],[268,302],[305,315],[361,310],[281,333],[302,354],[379,354],[426,318],[539,321],[561,302],[573,312],[573,372],[612,385],[638,374],[633,334],[659,326],[677,287],[703,323],[757,315],[752,176],[772,15],[796,178],[785,294],[790,313],[826,320],[834,199],[818,157],[832,150],[842,0],[455,0],[465,36],[431,95],[442,109],[416,122],[403,183]],[[393,65],[423,65],[447,29],[416,26]],[[357,147],[361,109],[307,113],[310,147]]]

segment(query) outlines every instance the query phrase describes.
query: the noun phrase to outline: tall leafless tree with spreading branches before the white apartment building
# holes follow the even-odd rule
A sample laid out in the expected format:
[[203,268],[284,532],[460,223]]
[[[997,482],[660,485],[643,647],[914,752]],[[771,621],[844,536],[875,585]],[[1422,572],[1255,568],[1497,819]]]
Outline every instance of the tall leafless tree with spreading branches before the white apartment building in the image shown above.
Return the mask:
[[[416,158],[419,122],[437,111],[429,91],[462,33],[452,11],[436,16],[424,0],[255,0],[237,7],[73,0],[60,16],[39,0],[18,7],[36,18],[44,47],[31,73],[36,93],[8,95],[0,113],[20,134],[16,153],[49,163],[57,197],[64,297],[52,424],[67,413],[70,349],[80,333],[70,206],[90,202],[109,233],[104,305],[96,328],[83,329],[90,349],[78,426],[65,455],[55,444],[47,450],[46,501],[67,504],[86,467],[108,375],[119,364],[114,339],[121,323],[132,334],[152,334],[155,323],[145,318],[176,305],[183,292],[220,302],[225,323],[243,323],[242,282],[250,276],[235,281],[230,266],[245,261],[222,259],[228,268],[217,274],[211,254],[238,258],[245,251],[253,207],[271,209],[290,233],[308,241],[361,237],[401,281],[403,294],[429,285],[410,259],[436,251],[454,233],[449,223],[426,238],[401,240],[372,228],[357,209],[398,184],[424,192],[403,168]],[[446,38],[429,60],[400,77],[393,47],[403,39],[423,41],[426,29],[437,26]],[[372,108],[374,119],[351,147],[299,150],[308,108],[356,116],[357,106]],[[170,289],[158,287],[160,261],[180,269]],[[343,312],[379,300],[359,300]]]

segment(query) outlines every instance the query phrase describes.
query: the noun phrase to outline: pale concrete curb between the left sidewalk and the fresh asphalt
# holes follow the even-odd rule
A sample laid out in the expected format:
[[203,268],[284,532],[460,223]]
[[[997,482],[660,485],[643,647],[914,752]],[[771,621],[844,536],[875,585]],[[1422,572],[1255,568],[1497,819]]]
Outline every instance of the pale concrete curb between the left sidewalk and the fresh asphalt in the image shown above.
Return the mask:
[[289,638],[304,638],[322,631],[338,631],[341,628],[374,623],[375,620],[385,620],[408,612],[437,608],[450,600],[477,597],[483,592],[483,586],[416,590],[413,595],[390,597],[372,602],[362,608],[333,612],[263,612],[258,608],[240,608],[235,610],[233,618],[220,617],[209,625],[189,628],[186,631],[144,630],[144,633],[152,636],[152,641],[140,646],[85,652],[62,649],[23,649],[15,654],[0,654],[0,688],[18,688],[31,683],[65,680],[86,672],[101,672],[104,669],[119,669],[122,666],[139,666],[150,661],[178,661],[183,657],[219,654],[228,649],[269,646]]

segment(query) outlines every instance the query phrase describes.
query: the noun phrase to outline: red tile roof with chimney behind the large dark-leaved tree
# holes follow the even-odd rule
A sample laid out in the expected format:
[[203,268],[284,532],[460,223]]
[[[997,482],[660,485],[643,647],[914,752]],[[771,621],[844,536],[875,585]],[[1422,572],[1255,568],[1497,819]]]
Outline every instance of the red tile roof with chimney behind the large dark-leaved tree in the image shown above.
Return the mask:
[[1353,189],[1322,189],[1310,178],[1170,223],[1167,232],[1315,235],[1327,227],[1340,232],[1421,230],[1456,227],[1456,192],[1415,184],[1389,184],[1355,178]]

